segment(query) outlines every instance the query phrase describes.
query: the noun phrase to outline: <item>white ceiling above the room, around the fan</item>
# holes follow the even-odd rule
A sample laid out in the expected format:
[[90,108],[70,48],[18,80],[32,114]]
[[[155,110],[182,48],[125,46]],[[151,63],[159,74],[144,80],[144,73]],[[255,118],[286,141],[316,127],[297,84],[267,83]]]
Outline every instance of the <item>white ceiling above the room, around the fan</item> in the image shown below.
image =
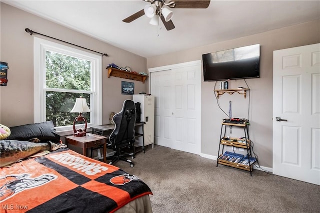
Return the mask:
[[167,31],[145,15],[122,22],[143,0],[1,1],[146,58],[320,18],[319,0],[211,0],[205,9],[171,9]]

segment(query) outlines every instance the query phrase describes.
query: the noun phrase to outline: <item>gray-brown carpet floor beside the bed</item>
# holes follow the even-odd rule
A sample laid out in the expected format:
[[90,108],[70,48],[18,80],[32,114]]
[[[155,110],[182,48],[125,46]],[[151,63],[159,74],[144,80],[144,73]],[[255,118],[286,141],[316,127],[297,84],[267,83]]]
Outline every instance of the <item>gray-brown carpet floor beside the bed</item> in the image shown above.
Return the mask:
[[153,213],[319,213],[320,186],[218,165],[198,155],[154,145],[116,162],[146,183]]

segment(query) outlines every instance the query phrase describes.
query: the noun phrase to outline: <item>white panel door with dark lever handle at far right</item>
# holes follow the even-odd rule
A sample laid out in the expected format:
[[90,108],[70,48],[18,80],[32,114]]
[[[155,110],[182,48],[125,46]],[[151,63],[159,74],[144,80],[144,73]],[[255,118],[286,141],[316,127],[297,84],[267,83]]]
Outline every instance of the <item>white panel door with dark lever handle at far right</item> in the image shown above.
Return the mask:
[[273,51],[272,152],[273,174],[320,185],[320,44]]

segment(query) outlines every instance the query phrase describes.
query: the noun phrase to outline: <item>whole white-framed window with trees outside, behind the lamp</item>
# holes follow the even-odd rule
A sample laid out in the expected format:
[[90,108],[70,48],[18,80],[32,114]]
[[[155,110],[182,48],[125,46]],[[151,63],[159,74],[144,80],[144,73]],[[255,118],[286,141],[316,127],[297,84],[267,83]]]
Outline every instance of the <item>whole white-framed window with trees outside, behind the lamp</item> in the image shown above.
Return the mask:
[[89,125],[101,124],[101,56],[34,37],[34,122],[52,120],[56,131],[72,129],[70,113],[82,96]]

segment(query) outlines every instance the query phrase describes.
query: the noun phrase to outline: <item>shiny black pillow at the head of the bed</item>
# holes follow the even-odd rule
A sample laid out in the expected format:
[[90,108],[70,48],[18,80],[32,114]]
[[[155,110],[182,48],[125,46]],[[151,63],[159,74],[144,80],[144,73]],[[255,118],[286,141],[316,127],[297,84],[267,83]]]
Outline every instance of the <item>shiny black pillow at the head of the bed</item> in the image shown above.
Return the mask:
[[11,135],[6,138],[7,140],[27,141],[31,138],[37,138],[40,141],[54,143],[58,143],[60,140],[60,136],[55,133],[52,121],[10,127],[10,131]]

